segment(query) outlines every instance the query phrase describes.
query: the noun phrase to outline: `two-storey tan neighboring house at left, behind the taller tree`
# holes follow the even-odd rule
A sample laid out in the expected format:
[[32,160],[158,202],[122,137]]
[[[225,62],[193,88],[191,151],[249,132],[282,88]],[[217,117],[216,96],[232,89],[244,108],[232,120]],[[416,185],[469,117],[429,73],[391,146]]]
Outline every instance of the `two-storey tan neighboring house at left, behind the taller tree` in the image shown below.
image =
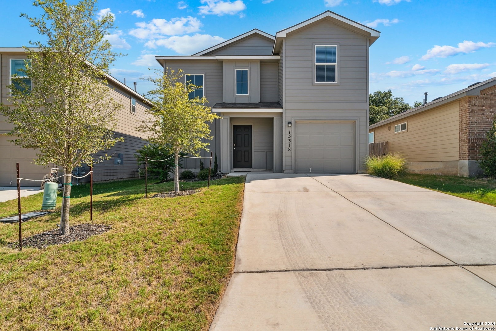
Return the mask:
[[[22,48],[0,48],[0,101],[5,105],[11,105],[9,101],[10,75],[15,73],[15,66],[22,65],[26,58]],[[112,149],[97,154],[112,155],[112,159],[106,160],[95,166],[94,180],[114,180],[138,177],[138,164],[134,153],[146,143],[145,136],[136,131],[138,121],[146,116],[145,110],[150,109],[149,103],[139,93],[125,86],[116,78],[107,75],[109,85],[109,96],[120,102],[123,108],[117,113],[118,120],[116,137],[124,137],[124,142],[117,143]],[[52,166],[39,166],[32,164],[36,158],[36,150],[20,148],[9,142],[13,139],[6,135],[12,128],[12,124],[4,122],[0,115],[0,186],[16,185],[15,164],[19,163],[21,176],[32,179],[42,179],[50,171]],[[78,170],[88,171],[88,167]],[[73,179],[74,182],[76,179]],[[84,179],[84,180],[87,180]],[[32,186],[33,182],[21,181],[23,186]]]

